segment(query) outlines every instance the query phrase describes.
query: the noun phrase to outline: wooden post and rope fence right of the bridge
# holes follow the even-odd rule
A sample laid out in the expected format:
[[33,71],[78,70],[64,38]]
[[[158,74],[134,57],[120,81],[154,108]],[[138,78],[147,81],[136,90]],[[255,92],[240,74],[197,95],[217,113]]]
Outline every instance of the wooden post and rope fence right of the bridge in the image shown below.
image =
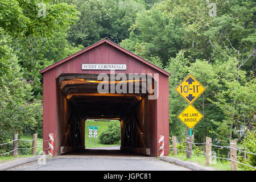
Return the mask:
[[[223,159],[223,160],[228,160],[231,162],[231,170],[232,171],[236,171],[237,170],[237,163],[238,164],[241,164],[243,166],[247,166],[247,167],[251,167],[251,168],[254,168],[256,169],[256,167],[254,166],[250,166],[248,164],[244,164],[244,163],[241,163],[239,161],[237,161],[237,151],[240,151],[244,154],[251,154],[251,155],[256,155],[255,153],[253,152],[248,152],[248,151],[244,151],[244,150],[240,150],[239,148],[237,148],[237,144],[236,144],[236,141],[234,140],[230,140],[230,146],[219,146],[219,145],[216,145],[216,144],[212,144],[212,139],[207,137],[207,142],[204,142],[204,143],[194,143],[192,142],[192,137],[187,137],[185,140],[179,142],[176,140],[176,136],[172,136],[172,138],[170,137],[170,140],[168,142],[163,142],[163,143],[169,143],[169,146],[170,146],[170,143],[172,142],[172,148],[167,148],[167,149],[163,149],[164,151],[170,151],[172,150],[173,151],[173,155],[176,155],[177,154],[177,151],[182,151],[182,152],[187,152],[187,158],[191,158],[191,154],[193,155],[201,155],[203,154],[206,158],[206,164],[207,166],[211,163],[211,158],[216,158],[216,159]],[[179,150],[177,149],[177,143],[187,143],[187,149],[186,150]],[[192,151],[192,144],[195,144],[195,145],[206,145],[206,152],[200,152],[200,153],[195,153]],[[189,147],[190,145],[190,147]],[[230,158],[221,158],[219,156],[215,156],[215,155],[212,155],[212,146],[214,147],[218,147],[218,148],[228,148],[230,150]]]

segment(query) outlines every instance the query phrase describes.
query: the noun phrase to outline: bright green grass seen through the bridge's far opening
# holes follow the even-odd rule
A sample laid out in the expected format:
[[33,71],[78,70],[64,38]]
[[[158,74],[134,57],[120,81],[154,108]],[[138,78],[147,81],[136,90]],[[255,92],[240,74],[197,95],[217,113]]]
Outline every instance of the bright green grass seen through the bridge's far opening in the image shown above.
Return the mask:
[[[85,121],[85,147],[86,148],[96,148],[96,147],[108,147],[108,146],[117,146],[121,144],[121,141],[119,140],[118,143],[115,144],[101,144],[100,143],[100,134],[108,129],[108,125],[110,123],[118,123],[120,122],[118,120],[110,120],[110,121],[94,121],[94,120],[86,120]],[[98,137],[96,138],[96,145],[94,145],[95,138],[89,138],[89,126],[98,126]]]

